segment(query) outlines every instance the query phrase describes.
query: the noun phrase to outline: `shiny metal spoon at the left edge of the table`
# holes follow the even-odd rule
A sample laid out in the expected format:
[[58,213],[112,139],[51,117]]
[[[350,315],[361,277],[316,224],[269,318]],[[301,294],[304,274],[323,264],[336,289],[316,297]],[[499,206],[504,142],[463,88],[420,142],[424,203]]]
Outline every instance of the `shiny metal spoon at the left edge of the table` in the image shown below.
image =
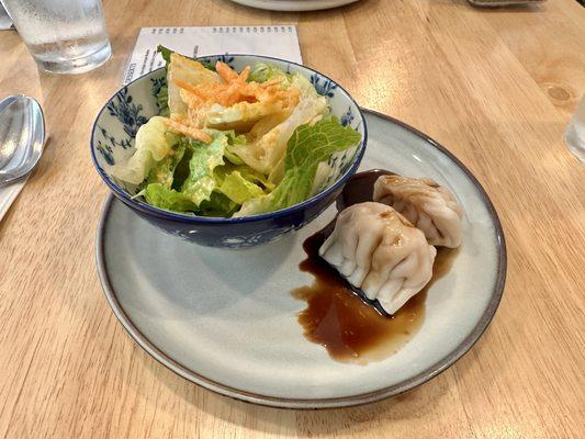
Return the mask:
[[25,95],[0,102],[0,185],[31,172],[44,144],[45,119],[38,102]]

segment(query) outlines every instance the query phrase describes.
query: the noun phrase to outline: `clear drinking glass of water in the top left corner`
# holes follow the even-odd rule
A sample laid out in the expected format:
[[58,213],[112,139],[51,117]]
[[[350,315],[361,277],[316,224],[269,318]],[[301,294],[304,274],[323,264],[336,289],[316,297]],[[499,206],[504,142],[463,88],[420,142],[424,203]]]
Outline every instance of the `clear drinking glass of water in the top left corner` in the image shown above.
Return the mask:
[[81,74],[112,55],[100,0],[1,0],[36,64]]

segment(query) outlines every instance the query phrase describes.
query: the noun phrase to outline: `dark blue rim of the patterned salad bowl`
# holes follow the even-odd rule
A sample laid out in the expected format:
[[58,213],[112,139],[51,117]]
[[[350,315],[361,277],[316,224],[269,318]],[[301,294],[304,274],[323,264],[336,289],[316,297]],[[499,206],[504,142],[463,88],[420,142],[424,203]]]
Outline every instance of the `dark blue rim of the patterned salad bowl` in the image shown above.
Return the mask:
[[[206,55],[206,56],[198,56],[194,59],[209,59],[214,57],[222,57],[224,55],[214,54],[214,55]],[[337,190],[340,185],[342,185],[349,178],[356,173],[356,170],[359,168],[361,160],[363,158],[363,155],[365,154],[365,148],[368,146],[368,124],[365,123],[365,116],[363,115],[363,110],[360,105],[358,105],[358,102],[349,94],[349,92],[337,81],[329,78],[327,75],[322,74],[318,70],[315,70],[312,67],[307,67],[303,64],[290,61],[288,59],[278,58],[274,56],[266,56],[266,55],[252,55],[252,54],[229,54],[229,56],[234,57],[245,57],[249,56],[252,58],[263,58],[263,59],[273,59],[280,63],[286,63],[291,64],[297,67],[301,67],[303,69],[313,71],[314,74],[317,74],[322,76],[323,78],[327,79],[328,81],[331,81],[337,86],[337,89],[341,91],[341,93],[358,109],[359,117],[361,119],[361,124],[363,126],[363,137],[360,139],[358,145],[356,146],[356,153],[353,154],[353,157],[351,159],[351,165],[349,168],[336,180],[329,185],[328,188],[325,188],[319,193],[314,194],[313,196],[301,201],[300,203],[293,204],[292,206],[279,209],[278,211],[273,212],[267,212],[267,213],[260,213],[256,215],[249,215],[249,216],[237,216],[237,217],[215,217],[215,216],[199,216],[199,215],[187,215],[179,212],[172,212],[167,211],[160,207],[153,206],[148,203],[144,203],[139,200],[134,199],[130,193],[127,193],[124,189],[122,189],[117,183],[114,183],[111,181],[111,179],[108,177],[105,170],[100,166],[98,162],[98,158],[95,156],[95,148],[93,148],[93,137],[95,135],[95,130],[98,127],[98,120],[100,119],[101,114],[105,112],[106,105],[110,101],[112,101],[117,93],[120,93],[121,90],[124,88],[128,88],[134,82],[137,82],[139,80],[145,80],[145,78],[149,75],[156,74],[166,67],[159,67],[153,71],[149,71],[148,74],[145,74],[143,76],[139,76],[138,78],[134,79],[133,81],[124,85],[122,88],[117,89],[115,93],[113,93],[106,101],[106,103],[100,109],[98,112],[98,115],[95,116],[93,121],[93,126],[91,128],[90,139],[89,139],[89,149],[91,155],[91,161],[93,162],[93,167],[98,171],[98,175],[101,177],[102,181],[110,188],[110,190],[120,199],[120,201],[126,203],[132,209],[138,210],[146,215],[156,216],[158,218],[168,219],[168,221],[176,221],[180,223],[188,223],[188,224],[211,224],[211,225],[232,225],[232,224],[241,224],[241,223],[255,223],[255,222],[261,222],[265,219],[271,219],[271,218],[280,218],[283,216],[288,216],[291,213],[295,212],[302,212],[306,210],[310,206],[313,206],[317,203],[319,203],[322,200],[327,198],[331,192]],[[359,126],[359,125],[358,125]]]

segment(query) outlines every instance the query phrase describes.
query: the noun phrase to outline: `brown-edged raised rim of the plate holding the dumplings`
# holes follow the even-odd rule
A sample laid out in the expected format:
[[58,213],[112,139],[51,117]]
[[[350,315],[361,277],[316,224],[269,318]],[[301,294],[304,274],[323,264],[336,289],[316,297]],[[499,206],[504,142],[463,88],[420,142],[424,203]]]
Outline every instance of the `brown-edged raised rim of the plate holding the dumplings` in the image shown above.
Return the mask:
[[213,380],[210,380],[183,367],[182,364],[180,364],[179,362],[175,361],[172,358],[167,356],[165,352],[162,352],[145,335],[143,335],[138,330],[138,328],[133,324],[132,319],[126,315],[126,313],[122,308],[116,297],[116,293],[114,289],[112,288],[112,284],[111,284],[111,281],[108,274],[108,269],[105,267],[105,259],[104,259],[104,248],[103,248],[104,230],[105,230],[104,225],[105,225],[108,215],[110,213],[112,203],[115,200],[115,198],[112,194],[110,194],[103,207],[103,212],[100,218],[100,224],[98,227],[97,241],[95,241],[95,259],[97,259],[98,273],[99,273],[100,281],[101,281],[101,284],[104,291],[104,295],[108,302],[110,303],[110,306],[112,307],[115,316],[122,323],[122,325],[124,326],[126,331],[131,335],[131,337],[134,338],[134,340],[143,349],[145,349],[151,357],[154,357],[161,364],[166,365],[168,369],[181,375],[182,378],[195,384],[199,384],[207,390],[220,393],[222,395],[229,396],[229,397],[240,399],[240,401],[245,401],[248,403],[255,403],[255,404],[272,406],[272,407],[315,409],[315,408],[348,407],[348,406],[353,406],[353,405],[372,403],[375,401],[384,399],[390,396],[398,395],[414,387],[417,387],[420,384],[437,376],[439,373],[443,372],[449,367],[451,367],[457,360],[459,360],[463,354],[465,354],[473,347],[473,345],[480,339],[482,334],[485,331],[485,329],[490,325],[499,305],[499,301],[502,299],[502,294],[504,292],[504,285],[506,281],[506,268],[507,268],[506,244],[504,239],[504,232],[503,232],[499,218],[497,216],[497,213],[490,198],[487,196],[486,192],[480,184],[480,182],[475,179],[475,177],[471,173],[471,171],[449,150],[447,150],[445,147],[439,145],[437,142],[435,142],[434,139],[431,139],[424,133],[417,131],[416,128],[413,128],[412,126],[401,121],[397,121],[391,116],[387,116],[385,114],[382,114],[382,113],[379,113],[372,110],[362,109],[362,111],[364,111],[367,115],[378,116],[380,119],[385,120],[386,122],[398,125],[400,127],[426,140],[429,145],[431,145],[432,147],[438,149],[440,153],[446,155],[471,180],[471,182],[477,190],[483,203],[485,204],[485,207],[487,209],[488,214],[493,221],[497,243],[499,244],[497,246],[497,272],[496,272],[496,281],[494,282],[494,289],[493,289],[490,302],[487,306],[485,307],[483,315],[477,320],[473,330],[449,354],[447,354],[441,360],[437,361],[435,364],[427,368],[423,372],[418,373],[417,375],[412,376],[407,380],[404,380],[403,382],[398,384],[386,386],[386,387],[375,390],[372,392],[368,392],[368,393],[358,394],[358,395],[351,395],[347,397],[346,396],[330,397],[330,398],[286,398],[286,397],[274,397],[274,396],[266,396],[261,394],[250,393],[247,391],[241,391],[238,389],[234,389],[234,387],[217,383]]

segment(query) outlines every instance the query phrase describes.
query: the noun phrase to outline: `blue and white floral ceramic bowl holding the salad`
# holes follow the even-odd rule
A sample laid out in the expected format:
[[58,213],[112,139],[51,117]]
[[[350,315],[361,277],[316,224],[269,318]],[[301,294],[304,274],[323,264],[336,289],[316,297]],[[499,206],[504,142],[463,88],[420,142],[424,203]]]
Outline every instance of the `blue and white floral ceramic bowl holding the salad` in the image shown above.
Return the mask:
[[111,167],[126,160],[134,150],[138,127],[157,115],[156,95],[166,83],[165,68],[147,74],[116,92],[102,108],[91,133],[91,158],[95,169],[115,196],[150,223],[183,239],[212,247],[244,248],[273,241],[297,230],[325,211],[356,172],[365,150],[368,132],[359,105],[338,83],[308,67],[283,59],[256,55],[217,55],[202,60],[222,60],[240,71],[257,63],[274,65],[286,72],[299,72],[311,80],[319,94],[327,97],[331,114],[361,134],[358,146],[329,159],[331,175],[319,193],[302,203],[261,215],[218,218],[169,212],[133,199],[136,188],[115,180]]

